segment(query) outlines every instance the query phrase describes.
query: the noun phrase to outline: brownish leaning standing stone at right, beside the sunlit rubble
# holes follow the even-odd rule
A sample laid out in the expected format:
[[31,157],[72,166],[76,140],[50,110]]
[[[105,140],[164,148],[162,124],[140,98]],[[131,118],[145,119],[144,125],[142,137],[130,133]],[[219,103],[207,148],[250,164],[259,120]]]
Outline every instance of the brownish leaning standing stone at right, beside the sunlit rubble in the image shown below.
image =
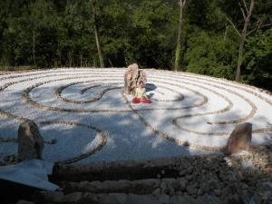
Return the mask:
[[237,153],[239,151],[248,151],[252,138],[252,124],[238,124],[231,132],[225,151],[227,154]]

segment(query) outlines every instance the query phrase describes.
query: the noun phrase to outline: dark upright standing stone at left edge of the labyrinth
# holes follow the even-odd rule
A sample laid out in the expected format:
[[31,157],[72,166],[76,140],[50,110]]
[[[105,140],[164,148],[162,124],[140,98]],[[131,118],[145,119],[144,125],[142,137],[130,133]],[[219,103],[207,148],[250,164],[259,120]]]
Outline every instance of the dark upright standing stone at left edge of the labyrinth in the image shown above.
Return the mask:
[[34,121],[24,121],[18,130],[18,160],[42,159],[44,139]]

